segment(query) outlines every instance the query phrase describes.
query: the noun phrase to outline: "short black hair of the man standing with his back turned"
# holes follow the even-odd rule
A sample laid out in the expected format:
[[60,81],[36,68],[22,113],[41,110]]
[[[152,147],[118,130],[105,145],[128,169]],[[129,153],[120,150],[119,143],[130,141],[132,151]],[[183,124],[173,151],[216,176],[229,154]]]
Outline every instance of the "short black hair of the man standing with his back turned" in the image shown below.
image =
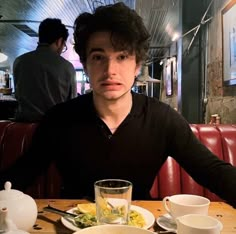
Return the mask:
[[60,19],[47,18],[39,25],[39,43],[52,44],[59,38],[68,38],[68,30]]

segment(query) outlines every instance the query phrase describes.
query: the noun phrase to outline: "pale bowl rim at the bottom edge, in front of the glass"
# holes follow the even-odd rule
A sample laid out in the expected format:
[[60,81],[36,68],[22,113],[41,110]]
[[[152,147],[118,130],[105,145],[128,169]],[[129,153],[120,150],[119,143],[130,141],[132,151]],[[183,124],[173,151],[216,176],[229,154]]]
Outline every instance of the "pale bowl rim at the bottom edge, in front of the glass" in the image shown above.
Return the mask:
[[73,234],[153,234],[153,232],[134,226],[105,224],[81,229]]

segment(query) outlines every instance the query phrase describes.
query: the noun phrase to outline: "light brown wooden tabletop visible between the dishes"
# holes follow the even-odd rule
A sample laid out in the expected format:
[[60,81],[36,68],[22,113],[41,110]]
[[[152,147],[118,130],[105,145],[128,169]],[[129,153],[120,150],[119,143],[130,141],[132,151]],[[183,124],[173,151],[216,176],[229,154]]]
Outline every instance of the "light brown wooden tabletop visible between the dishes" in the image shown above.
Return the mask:
[[[78,203],[87,203],[85,200],[62,200],[62,199],[38,199],[38,219],[34,227],[29,231],[31,234],[69,234],[73,231],[64,227],[60,221],[60,216],[50,212],[42,211],[42,208],[50,204],[62,210],[69,210]],[[133,201],[133,205],[141,206],[151,211],[155,217],[165,214],[161,201]],[[223,224],[221,234],[236,234],[236,209],[223,202],[211,202],[209,215],[217,218]],[[162,230],[156,224],[151,230]]]

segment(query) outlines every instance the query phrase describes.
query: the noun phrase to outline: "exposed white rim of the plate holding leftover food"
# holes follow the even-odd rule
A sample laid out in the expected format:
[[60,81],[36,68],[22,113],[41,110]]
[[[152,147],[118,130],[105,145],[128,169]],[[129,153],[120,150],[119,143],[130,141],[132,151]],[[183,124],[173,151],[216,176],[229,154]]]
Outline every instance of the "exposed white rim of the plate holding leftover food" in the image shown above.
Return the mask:
[[[68,210],[67,212],[74,213],[74,210],[76,210],[76,209],[77,208],[72,208],[72,209]],[[140,206],[133,206],[133,205],[131,205],[131,210],[135,210],[143,215],[144,220],[146,222],[146,225],[143,227],[144,229],[148,229],[148,228],[152,227],[152,225],[155,222],[155,217],[150,211],[148,211]],[[65,227],[69,228],[72,231],[80,230],[80,228],[74,226],[70,221],[68,221],[64,217],[61,217],[61,222]]]

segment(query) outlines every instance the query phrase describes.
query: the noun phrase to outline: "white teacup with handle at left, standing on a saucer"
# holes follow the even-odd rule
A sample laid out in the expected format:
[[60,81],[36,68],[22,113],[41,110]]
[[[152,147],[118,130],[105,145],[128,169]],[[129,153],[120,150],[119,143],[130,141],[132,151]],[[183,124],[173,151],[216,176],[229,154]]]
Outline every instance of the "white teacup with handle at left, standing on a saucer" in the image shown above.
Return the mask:
[[210,200],[192,194],[177,194],[163,198],[163,205],[167,213],[175,220],[187,214],[207,215]]

